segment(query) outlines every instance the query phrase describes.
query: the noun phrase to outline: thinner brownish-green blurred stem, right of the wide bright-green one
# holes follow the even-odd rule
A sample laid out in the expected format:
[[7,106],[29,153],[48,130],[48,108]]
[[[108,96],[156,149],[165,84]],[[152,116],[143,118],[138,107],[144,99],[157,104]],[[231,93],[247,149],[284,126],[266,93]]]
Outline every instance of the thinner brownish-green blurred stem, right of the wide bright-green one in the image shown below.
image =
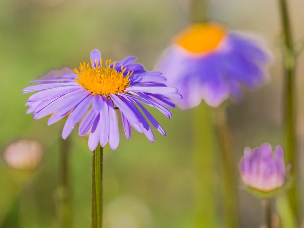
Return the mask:
[[223,196],[224,223],[227,228],[237,228],[239,221],[235,156],[233,153],[231,132],[223,107],[215,109],[215,126],[220,149],[220,166],[223,179],[221,190]]

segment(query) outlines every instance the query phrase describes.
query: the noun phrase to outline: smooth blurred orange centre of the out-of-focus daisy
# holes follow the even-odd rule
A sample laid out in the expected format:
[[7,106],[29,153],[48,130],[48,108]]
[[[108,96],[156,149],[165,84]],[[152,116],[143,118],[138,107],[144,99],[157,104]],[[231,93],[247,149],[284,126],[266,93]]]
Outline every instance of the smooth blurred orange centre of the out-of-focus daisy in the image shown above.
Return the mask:
[[215,23],[197,23],[184,29],[173,42],[189,52],[202,54],[215,49],[224,36],[224,28]]

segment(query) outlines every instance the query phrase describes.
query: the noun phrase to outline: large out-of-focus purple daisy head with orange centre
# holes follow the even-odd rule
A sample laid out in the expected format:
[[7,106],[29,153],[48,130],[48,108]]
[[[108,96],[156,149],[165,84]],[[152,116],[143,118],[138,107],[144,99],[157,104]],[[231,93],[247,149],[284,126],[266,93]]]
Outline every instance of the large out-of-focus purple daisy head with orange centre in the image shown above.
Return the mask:
[[256,88],[268,76],[265,66],[270,51],[257,37],[227,30],[220,24],[196,23],[181,31],[167,48],[156,69],[178,88],[182,109],[193,108],[204,99],[218,106],[225,99],[242,97],[241,86]]

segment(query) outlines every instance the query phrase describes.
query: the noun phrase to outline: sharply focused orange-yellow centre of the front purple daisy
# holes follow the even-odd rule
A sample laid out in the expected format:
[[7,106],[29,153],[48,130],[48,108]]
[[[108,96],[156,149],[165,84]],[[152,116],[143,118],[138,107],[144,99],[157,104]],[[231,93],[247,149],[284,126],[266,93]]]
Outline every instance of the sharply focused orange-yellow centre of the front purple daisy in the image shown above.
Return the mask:
[[99,94],[108,96],[110,93],[123,93],[126,88],[130,86],[129,77],[133,71],[128,71],[124,76],[126,68],[121,67],[121,72],[115,69],[115,62],[113,68],[109,67],[111,60],[105,61],[105,67],[102,67],[102,59],[100,66],[97,60],[95,61],[96,68],[91,64],[80,63],[79,70],[74,68],[74,72],[78,75],[75,79],[84,89],[89,90],[91,94]]

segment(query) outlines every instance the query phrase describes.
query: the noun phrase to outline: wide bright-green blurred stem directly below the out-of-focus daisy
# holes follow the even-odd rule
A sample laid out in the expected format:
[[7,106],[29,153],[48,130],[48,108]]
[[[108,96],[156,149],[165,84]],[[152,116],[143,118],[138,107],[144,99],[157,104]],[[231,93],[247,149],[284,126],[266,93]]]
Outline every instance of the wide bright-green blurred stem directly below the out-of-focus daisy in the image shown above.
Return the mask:
[[216,170],[211,108],[202,102],[193,110],[196,227],[217,227]]

